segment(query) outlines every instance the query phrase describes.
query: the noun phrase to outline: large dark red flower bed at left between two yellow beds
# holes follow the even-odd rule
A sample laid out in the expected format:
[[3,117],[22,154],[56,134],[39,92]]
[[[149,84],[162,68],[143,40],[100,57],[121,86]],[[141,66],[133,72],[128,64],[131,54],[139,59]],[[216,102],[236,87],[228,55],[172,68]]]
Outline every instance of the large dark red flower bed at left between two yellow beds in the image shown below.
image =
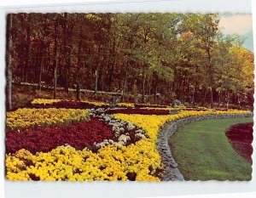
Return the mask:
[[91,118],[90,122],[78,122],[70,126],[38,127],[20,133],[8,131],[6,153],[15,153],[20,149],[29,150],[33,154],[38,151],[49,152],[64,144],[83,150],[104,139],[113,139],[112,128],[101,120]]

